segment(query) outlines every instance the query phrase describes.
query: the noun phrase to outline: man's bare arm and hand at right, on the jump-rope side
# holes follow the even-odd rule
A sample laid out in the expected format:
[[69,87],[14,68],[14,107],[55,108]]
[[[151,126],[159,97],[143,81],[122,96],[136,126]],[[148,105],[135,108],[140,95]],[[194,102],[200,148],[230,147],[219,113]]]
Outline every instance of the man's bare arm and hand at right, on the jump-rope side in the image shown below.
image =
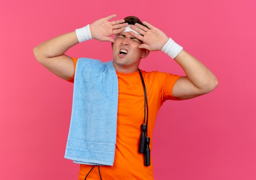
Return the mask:
[[[164,32],[153,27],[148,22],[144,21],[143,24],[145,24],[148,28],[140,24],[135,24],[137,27],[133,26],[131,28],[144,36],[130,31],[132,36],[135,36],[139,40],[145,42],[144,44],[141,44],[139,48],[148,49],[149,51],[160,51],[163,49],[165,44],[171,41],[173,44],[176,44],[173,40],[169,40]],[[177,46],[179,45],[177,44],[172,47],[175,49]],[[174,57],[172,58],[174,58],[174,60],[180,64],[186,73],[186,76],[178,79],[175,83],[173,87],[173,96],[175,98],[180,100],[194,98],[209,93],[218,86],[216,76],[214,76],[214,74],[207,67],[205,67],[202,62],[191,56],[186,51],[182,50],[182,47],[178,47],[177,49],[180,50],[176,55],[176,52],[171,53],[172,55],[174,54]]]

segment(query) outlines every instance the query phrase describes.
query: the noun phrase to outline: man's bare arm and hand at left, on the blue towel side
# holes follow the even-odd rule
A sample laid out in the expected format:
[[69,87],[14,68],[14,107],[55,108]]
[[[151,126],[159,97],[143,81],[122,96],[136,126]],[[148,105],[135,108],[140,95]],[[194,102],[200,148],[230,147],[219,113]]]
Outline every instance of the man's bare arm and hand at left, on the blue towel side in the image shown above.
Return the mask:
[[[111,15],[90,24],[90,36],[99,41],[115,42],[109,36],[124,31],[124,27],[128,25],[127,23],[120,24],[124,20],[109,22],[115,17],[116,15]],[[65,52],[78,43],[76,31],[72,31],[39,44],[33,51],[38,62],[44,67],[60,78],[68,80],[73,76],[74,62],[70,56],[65,55]]]

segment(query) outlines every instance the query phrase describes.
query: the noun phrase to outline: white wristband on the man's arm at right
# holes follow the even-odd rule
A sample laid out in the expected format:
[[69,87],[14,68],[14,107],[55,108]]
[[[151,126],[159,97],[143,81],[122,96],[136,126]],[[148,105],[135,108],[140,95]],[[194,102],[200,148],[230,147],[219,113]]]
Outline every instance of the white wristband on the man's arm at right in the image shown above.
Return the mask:
[[161,51],[164,53],[168,54],[171,58],[176,58],[180,51],[182,51],[183,47],[181,47],[179,44],[174,42],[171,38],[164,44],[164,47],[162,48]]

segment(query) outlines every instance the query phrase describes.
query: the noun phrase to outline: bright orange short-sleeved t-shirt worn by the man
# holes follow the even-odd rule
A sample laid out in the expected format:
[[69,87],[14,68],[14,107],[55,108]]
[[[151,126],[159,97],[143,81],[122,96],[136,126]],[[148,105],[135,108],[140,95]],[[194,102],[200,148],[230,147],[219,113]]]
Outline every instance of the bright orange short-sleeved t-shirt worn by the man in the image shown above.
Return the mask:
[[[74,59],[76,64],[76,59]],[[141,71],[148,98],[148,137],[152,140],[157,112],[165,100],[172,96],[173,85],[181,76],[157,71]],[[117,111],[117,141],[113,166],[100,166],[102,179],[153,180],[153,163],[144,166],[144,154],[139,153],[140,126],[144,120],[144,90],[139,71],[117,72],[119,97]],[[74,78],[68,80],[74,82]],[[153,143],[150,142],[150,149]],[[81,164],[79,180],[84,180],[92,165]],[[94,167],[87,180],[100,180],[98,167]]]

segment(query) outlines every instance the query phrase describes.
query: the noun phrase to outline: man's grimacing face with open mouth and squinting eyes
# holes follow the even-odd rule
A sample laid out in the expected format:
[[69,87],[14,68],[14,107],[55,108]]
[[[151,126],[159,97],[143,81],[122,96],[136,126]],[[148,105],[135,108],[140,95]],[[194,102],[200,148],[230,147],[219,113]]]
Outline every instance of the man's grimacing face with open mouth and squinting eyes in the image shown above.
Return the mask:
[[140,40],[124,32],[117,35],[112,43],[114,67],[119,72],[129,73],[138,70],[141,58],[146,58],[148,50],[139,49]]

